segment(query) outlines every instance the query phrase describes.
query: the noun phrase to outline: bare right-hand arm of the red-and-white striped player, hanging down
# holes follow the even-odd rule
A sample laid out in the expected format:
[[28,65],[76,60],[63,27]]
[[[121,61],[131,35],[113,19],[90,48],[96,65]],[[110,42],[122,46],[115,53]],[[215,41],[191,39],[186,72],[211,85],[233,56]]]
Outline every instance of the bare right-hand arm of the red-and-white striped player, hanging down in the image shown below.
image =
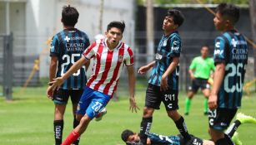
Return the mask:
[[129,92],[130,92],[130,110],[133,110],[137,113],[138,106],[136,104],[135,98],[134,98],[134,87],[135,87],[135,75],[134,75],[134,67],[127,66],[128,70],[128,84],[129,84]]

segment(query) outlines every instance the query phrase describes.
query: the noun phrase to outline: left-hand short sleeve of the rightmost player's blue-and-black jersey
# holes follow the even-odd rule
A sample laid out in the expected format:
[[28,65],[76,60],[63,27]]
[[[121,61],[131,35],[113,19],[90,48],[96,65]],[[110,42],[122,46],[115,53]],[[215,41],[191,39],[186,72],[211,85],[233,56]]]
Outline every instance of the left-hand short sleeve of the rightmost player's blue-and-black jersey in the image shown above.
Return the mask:
[[215,39],[215,44],[214,44],[214,64],[216,63],[221,63],[225,62],[225,46],[226,46],[226,41],[223,39],[223,37],[218,36]]

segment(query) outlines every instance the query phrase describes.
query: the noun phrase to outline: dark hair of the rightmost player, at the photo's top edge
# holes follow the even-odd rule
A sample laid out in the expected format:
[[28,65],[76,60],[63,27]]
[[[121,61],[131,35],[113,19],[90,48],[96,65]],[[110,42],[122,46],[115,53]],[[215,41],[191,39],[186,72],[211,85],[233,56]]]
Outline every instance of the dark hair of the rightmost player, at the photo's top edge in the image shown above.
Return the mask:
[[238,22],[240,17],[240,9],[233,4],[228,3],[220,3],[218,7],[216,7],[216,12],[219,12],[222,17],[230,20],[233,25]]

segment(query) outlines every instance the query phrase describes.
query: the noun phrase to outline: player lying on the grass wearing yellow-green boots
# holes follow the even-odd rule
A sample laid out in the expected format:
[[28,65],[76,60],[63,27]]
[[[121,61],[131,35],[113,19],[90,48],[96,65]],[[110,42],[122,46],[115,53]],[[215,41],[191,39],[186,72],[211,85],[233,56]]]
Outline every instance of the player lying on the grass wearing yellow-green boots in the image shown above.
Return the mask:
[[[237,119],[234,123],[254,123],[256,124],[256,119],[245,115],[245,114],[237,114]],[[233,124],[234,124],[233,123]],[[233,137],[233,133],[236,133],[235,130],[238,129],[238,126],[231,125],[229,126],[227,134],[230,138]],[[192,135],[191,135],[192,136]],[[138,133],[133,133],[133,131],[126,129],[121,134],[121,138],[124,143],[128,145],[136,145],[139,142],[140,138],[138,137]],[[203,140],[201,138],[197,138],[192,136],[192,141],[189,143],[185,143],[183,140],[183,136],[181,135],[170,135],[170,136],[163,136],[156,133],[149,133],[147,138],[147,145],[214,145],[212,141]],[[235,141],[233,141],[236,145],[240,145],[241,142],[238,140],[238,137]],[[238,144],[240,143],[240,144]]]

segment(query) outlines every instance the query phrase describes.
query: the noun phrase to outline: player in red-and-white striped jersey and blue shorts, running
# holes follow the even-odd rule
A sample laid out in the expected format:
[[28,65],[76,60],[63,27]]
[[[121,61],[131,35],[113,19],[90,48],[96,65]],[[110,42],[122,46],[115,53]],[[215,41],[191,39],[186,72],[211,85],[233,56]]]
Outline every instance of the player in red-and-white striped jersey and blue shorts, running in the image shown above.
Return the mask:
[[89,78],[78,104],[76,117],[80,123],[68,135],[63,145],[70,145],[77,140],[86,130],[90,121],[108,104],[117,89],[123,65],[126,65],[128,70],[130,109],[132,112],[133,110],[137,112],[138,106],[134,99],[133,51],[121,41],[124,28],[124,22],[110,22],[105,32],[106,38],[94,41],[83,52],[83,57],[73,64],[68,72],[50,82],[50,84],[53,83],[51,89],[55,89],[62,85],[68,76],[80,69],[83,64],[93,59],[93,75]]

